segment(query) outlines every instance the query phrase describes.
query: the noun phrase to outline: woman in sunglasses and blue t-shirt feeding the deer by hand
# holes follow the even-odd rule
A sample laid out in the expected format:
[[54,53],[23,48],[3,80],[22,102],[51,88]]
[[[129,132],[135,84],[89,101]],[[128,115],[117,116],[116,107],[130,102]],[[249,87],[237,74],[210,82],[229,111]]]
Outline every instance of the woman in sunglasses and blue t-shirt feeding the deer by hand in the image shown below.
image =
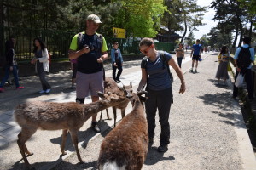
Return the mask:
[[143,38],[139,43],[141,52],[146,55],[143,58],[141,69],[142,79],[137,88],[137,92],[142,91],[147,84],[146,90],[148,99],[145,102],[145,109],[148,121],[148,139],[149,146],[154,141],[155,114],[159,111],[160,117],[160,146],[159,152],[166,152],[170,143],[170,124],[169,114],[172,104],[172,73],[169,70],[169,65],[176,71],[177,76],[181,81],[179,93],[185,92],[185,82],[183,73],[177,66],[171,54],[157,51],[154,48],[154,41],[151,38]]

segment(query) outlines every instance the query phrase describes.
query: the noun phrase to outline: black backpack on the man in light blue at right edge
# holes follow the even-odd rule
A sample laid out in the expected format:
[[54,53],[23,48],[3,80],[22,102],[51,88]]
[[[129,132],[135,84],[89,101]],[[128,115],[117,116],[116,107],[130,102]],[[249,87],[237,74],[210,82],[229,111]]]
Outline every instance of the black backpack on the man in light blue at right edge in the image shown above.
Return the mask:
[[241,51],[238,54],[238,59],[236,61],[236,64],[238,66],[238,68],[247,68],[248,66],[251,65],[251,52],[250,52],[250,48],[242,48],[241,47]]

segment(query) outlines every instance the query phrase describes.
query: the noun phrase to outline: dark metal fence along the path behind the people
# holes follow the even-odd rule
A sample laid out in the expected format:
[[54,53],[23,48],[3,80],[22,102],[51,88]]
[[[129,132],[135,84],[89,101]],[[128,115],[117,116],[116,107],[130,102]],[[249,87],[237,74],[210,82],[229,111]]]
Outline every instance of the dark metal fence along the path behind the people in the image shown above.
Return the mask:
[[[67,31],[55,31],[55,30],[35,30],[35,29],[26,29],[26,28],[8,28],[2,27],[0,29],[2,32],[1,41],[5,42],[10,36],[15,37],[16,46],[15,46],[15,55],[18,61],[27,61],[33,57],[33,39],[35,37],[41,37],[42,40],[47,45],[49,53],[52,56],[52,59],[67,59],[68,48],[70,42],[72,41],[74,32]],[[113,40],[119,42],[119,48],[122,54],[140,54],[138,43],[139,40],[134,39],[122,39],[122,38],[113,38],[105,37],[108,50],[112,48]],[[171,52],[174,50],[174,44],[169,42],[154,42],[155,47],[159,50],[165,50]],[[1,43],[4,44],[4,43]],[[3,45],[1,45],[3,46]],[[0,47],[3,50],[4,47]]]

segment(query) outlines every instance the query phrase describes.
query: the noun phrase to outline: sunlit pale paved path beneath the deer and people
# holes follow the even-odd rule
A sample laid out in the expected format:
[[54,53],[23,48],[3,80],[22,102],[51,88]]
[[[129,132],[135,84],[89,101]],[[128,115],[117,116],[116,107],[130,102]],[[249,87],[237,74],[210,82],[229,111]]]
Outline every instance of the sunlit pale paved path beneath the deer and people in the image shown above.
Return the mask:
[[[183,62],[183,73],[187,84],[185,94],[178,94],[180,82],[175,71],[172,74],[174,104],[171,109],[171,144],[165,154],[156,151],[159,145],[160,126],[157,123],[153,148],[143,169],[256,169],[255,157],[249,142],[240,107],[231,96],[229,86],[215,85],[214,76],[218,67],[216,54],[204,54],[197,74],[189,73],[189,57]],[[139,61],[125,63],[121,81],[132,81],[134,90],[141,75]],[[106,66],[107,70],[109,66]],[[0,94],[0,169],[22,169],[20,152],[15,143],[20,128],[12,121],[14,106],[26,100],[73,101],[75,93],[67,88],[70,85],[70,71],[50,75],[53,91],[48,95],[38,95],[38,77],[24,77],[21,83],[24,90],[7,88]],[[107,71],[107,76],[111,71]],[[90,102],[90,99],[86,100]],[[110,111],[110,110],[109,110]],[[131,111],[131,105],[127,113]],[[112,116],[113,114],[110,113]],[[104,115],[104,117],[106,117]],[[119,117],[120,118],[120,117]],[[157,118],[158,119],[158,118]],[[158,120],[157,120],[158,122]],[[102,133],[90,130],[90,121],[84,123],[79,132],[80,153],[84,164],[78,164],[71,140],[67,141],[67,156],[60,156],[61,131],[38,131],[27,142],[34,152],[28,160],[37,169],[96,169],[99,146],[103,137],[113,126],[113,120],[101,123]],[[64,159],[64,161],[62,161]]]

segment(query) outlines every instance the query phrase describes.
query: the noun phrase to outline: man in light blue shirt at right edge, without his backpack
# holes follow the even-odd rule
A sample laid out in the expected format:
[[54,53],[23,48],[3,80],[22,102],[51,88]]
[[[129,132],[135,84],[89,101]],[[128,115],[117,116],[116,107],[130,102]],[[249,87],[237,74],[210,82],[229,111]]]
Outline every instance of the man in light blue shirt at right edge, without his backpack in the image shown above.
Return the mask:
[[[250,54],[250,59],[251,59],[251,64],[247,66],[246,68],[240,68],[239,65],[237,65],[237,59],[239,59],[239,54],[241,53],[241,48],[236,49],[236,53],[234,56],[235,59],[235,65],[236,65],[236,76],[235,76],[235,82],[236,78],[238,76],[238,73],[241,71],[241,74],[244,76],[244,80],[247,83],[247,92],[248,92],[248,98],[249,99],[254,99],[253,97],[253,81],[252,81],[252,63],[255,60],[254,57],[254,48],[250,47],[251,44],[251,38],[250,37],[244,37],[243,38],[243,46],[241,48],[248,48],[249,54]],[[245,56],[246,57],[246,56]],[[233,88],[233,98],[236,98],[238,95],[238,88],[234,84]]]

